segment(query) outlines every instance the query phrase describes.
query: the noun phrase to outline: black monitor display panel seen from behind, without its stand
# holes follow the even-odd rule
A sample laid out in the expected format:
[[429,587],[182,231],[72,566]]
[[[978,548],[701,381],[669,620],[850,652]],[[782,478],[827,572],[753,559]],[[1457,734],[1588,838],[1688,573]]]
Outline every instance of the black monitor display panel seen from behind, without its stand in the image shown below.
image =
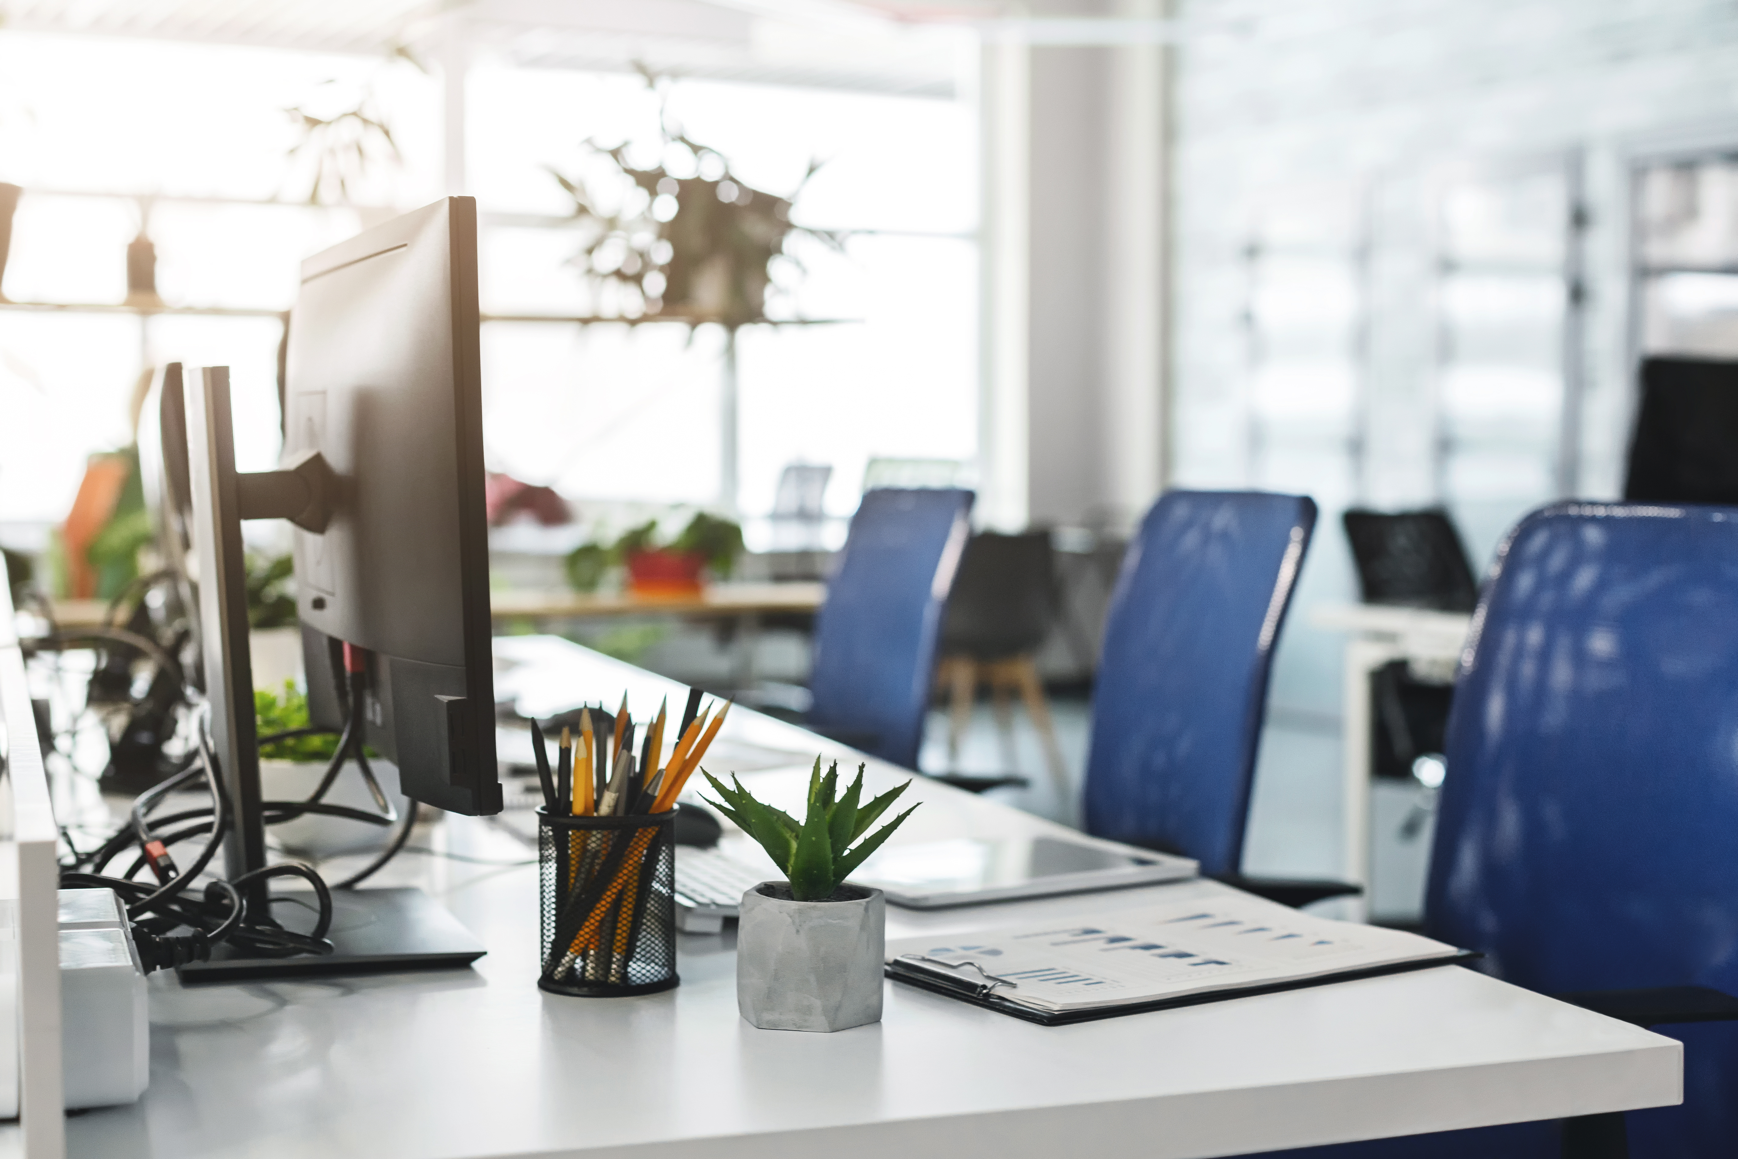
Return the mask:
[[342,723],[332,645],[363,648],[363,738],[407,796],[471,815],[501,811],[480,377],[473,198],[302,262],[283,459],[339,480],[325,530],[294,532],[309,709]]

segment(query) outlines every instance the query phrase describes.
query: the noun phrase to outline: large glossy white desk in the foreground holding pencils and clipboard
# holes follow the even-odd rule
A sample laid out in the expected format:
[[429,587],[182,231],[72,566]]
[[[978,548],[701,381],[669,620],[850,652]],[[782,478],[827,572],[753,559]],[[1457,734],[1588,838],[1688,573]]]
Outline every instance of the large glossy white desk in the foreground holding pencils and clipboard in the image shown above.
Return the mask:
[[[627,683],[634,707],[650,711],[676,692],[560,641],[497,645],[502,655],[553,652],[575,681],[563,695],[575,699],[614,705]],[[726,733],[742,745],[838,749],[742,709]],[[885,766],[871,775],[897,778]],[[796,777],[744,780],[777,789]],[[925,801],[914,836],[1053,829],[933,782],[912,794]],[[474,857],[525,855],[474,818],[447,818],[428,839]],[[888,983],[881,1023],[793,1034],[737,1017],[726,937],[685,937],[674,990],[554,997],[535,985],[535,867],[407,855],[393,869],[382,884],[421,881],[490,947],[474,970],[209,989],[153,975],[151,1089],[136,1107],[71,1119],[70,1154],[1168,1159],[1681,1096],[1675,1041],[1456,966],[1055,1029]],[[1090,902],[890,909],[888,935],[1224,890],[1194,881]]]

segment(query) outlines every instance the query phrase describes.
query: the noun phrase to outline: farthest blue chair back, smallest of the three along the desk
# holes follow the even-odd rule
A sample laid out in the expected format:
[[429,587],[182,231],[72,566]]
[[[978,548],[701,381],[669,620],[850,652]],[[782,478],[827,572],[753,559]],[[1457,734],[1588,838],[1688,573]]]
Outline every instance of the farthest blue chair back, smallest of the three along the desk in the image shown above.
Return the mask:
[[942,608],[970,511],[972,492],[958,488],[864,493],[815,617],[812,728],[918,766]]

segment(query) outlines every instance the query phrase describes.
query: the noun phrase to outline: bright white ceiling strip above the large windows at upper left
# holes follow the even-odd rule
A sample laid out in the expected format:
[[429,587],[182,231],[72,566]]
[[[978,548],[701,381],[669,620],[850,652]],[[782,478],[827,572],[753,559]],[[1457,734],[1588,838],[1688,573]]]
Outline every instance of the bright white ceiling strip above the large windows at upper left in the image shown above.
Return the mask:
[[436,57],[457,35],[525,66],[952,96],[959,36],[926,16],[909,0],[0,0],[19,31]]

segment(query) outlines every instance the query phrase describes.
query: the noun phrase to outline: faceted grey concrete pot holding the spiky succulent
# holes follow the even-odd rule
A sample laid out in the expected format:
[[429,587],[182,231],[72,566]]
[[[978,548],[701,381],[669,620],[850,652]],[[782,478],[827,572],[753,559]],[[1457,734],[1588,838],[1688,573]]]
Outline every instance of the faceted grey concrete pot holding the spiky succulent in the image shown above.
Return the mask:
[[791,900],[784,881],[742,895],[737,1010],[761,1030],[848,1030],[881,1020],[886,898],[839,886],[838,902]]

